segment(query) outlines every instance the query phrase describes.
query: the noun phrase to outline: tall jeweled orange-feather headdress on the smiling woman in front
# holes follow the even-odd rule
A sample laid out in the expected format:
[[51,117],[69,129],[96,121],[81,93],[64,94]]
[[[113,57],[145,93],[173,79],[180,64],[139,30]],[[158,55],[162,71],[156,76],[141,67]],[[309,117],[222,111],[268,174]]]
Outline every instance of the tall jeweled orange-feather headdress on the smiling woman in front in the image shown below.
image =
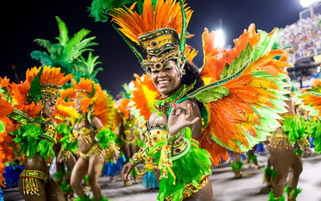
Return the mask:
[[[112,22],[119,28],[113,27],[149,75],[151,67],[161,70],[169,60],[176,60],[178,70],[182,73],[187,61],[184,55],[186,29],[193,11],[186,7],[183,0],[123,2],[94,0],[91,14],[97,21],[106,21],[106,14],[112,17]],[[142,48],[146,59],[126,37]],[[151,60],[151,56],[157,56],[158,59]]]

